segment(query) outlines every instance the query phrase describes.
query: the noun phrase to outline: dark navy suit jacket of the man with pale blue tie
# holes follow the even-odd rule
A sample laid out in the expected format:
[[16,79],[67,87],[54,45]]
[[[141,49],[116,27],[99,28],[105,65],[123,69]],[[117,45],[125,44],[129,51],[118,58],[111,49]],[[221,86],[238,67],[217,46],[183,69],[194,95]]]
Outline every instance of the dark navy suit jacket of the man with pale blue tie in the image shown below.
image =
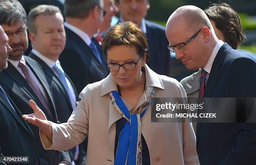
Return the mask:
[[[69,95],[67,93],[67,90],[65,89],[64,85],[62,84],[61,80],[59,80],[59,77],[54,73],[54,71],[39,57],[34,55],[32,52],[29,53],[29,57],[36,60],[39,65],[43,68],[46,80],[51,88],[51,92],[54,98],[54,105],[56,108],[57,116],[59,122],[67,122],[69,119],[69,116],[73,112],[72,103],[69,99]],[[74,91],[76,93],[76,101],[78,101],[78,95],[76,92],[76,89],[73,85],[73,82],[70,80],[70,78],[66,75],[66,77],[71,82]],[[75,148],[69,150],[70,159],[74,159],[74,153]]]

